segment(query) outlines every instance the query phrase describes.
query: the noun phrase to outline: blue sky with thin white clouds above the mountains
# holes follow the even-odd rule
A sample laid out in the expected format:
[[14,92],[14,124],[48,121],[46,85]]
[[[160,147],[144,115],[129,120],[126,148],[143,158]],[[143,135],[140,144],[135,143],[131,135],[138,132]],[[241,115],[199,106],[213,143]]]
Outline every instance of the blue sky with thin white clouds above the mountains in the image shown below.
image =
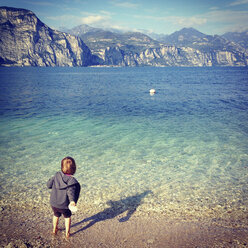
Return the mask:
[[248,0],[0,0],[0,6],[29,9],[58,30],[80,24],[157,34],[248,30]]

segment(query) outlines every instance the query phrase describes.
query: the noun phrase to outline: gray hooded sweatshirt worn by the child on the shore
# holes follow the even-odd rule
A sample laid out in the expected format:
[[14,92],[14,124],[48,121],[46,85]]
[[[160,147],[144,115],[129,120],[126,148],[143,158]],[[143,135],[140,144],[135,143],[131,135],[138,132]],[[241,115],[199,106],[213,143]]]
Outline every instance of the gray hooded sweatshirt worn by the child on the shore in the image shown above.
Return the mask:
[[52,189],[50,203],[59,209],[68,209],[71,201],[77,203],[80,194],[80,184],[73,176],[57,172],[47,182],[47,187]]

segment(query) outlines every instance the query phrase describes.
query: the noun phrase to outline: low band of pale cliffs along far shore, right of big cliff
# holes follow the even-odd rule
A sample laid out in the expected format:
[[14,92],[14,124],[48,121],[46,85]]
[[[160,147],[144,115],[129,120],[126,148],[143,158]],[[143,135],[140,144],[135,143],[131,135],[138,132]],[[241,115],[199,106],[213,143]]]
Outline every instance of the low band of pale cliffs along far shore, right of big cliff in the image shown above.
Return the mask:
[[190,47],[161,45],[141,52],[121,47],[94,49],[98,64],[113,66],[247,66],[248,54],[242,52],[201,52]]

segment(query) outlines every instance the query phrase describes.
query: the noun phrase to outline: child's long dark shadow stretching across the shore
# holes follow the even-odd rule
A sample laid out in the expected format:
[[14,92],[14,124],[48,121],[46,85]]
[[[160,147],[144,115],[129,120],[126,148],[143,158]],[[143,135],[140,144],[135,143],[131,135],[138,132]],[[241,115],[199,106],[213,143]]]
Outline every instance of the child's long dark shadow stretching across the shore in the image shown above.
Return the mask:
[[136,211],[137,207],[142,204],[142,200],[148,195],[151,194],[152,191],[147,190],[143,192],[142,194],[137,194],[134,196],[127,197],[125,199],[121,199],[119,201],[108,201],[107,204],[110,206],[109,208],[106,208],[102,212],[99,212],[89,218],[85,218],[82,221],[75,223],[72,225],[72,227],[78,226],[83,224],[84,222],[91,221],[88,225],[85,227],[77,230],[76,232],[72,233],[72,235],[75,235],[81,231],[84,231],[88,229],[89,227],[93,226],[97,222],[113,219],[116,216],[124,213],[127,211],[127,215],[121,219],[119,219],[119,222],[125,222],[130,219],[130,217],[133,215],[133,213]]

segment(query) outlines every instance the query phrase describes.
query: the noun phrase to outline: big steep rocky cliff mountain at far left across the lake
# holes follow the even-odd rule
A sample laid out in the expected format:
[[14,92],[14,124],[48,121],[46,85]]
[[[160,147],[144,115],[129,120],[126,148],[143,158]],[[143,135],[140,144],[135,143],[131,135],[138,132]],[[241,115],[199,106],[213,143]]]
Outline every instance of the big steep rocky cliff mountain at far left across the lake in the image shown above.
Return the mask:
[[0,7],[1,66],[87,66],[94,64],[84,42],[53,30],[26,9]]

